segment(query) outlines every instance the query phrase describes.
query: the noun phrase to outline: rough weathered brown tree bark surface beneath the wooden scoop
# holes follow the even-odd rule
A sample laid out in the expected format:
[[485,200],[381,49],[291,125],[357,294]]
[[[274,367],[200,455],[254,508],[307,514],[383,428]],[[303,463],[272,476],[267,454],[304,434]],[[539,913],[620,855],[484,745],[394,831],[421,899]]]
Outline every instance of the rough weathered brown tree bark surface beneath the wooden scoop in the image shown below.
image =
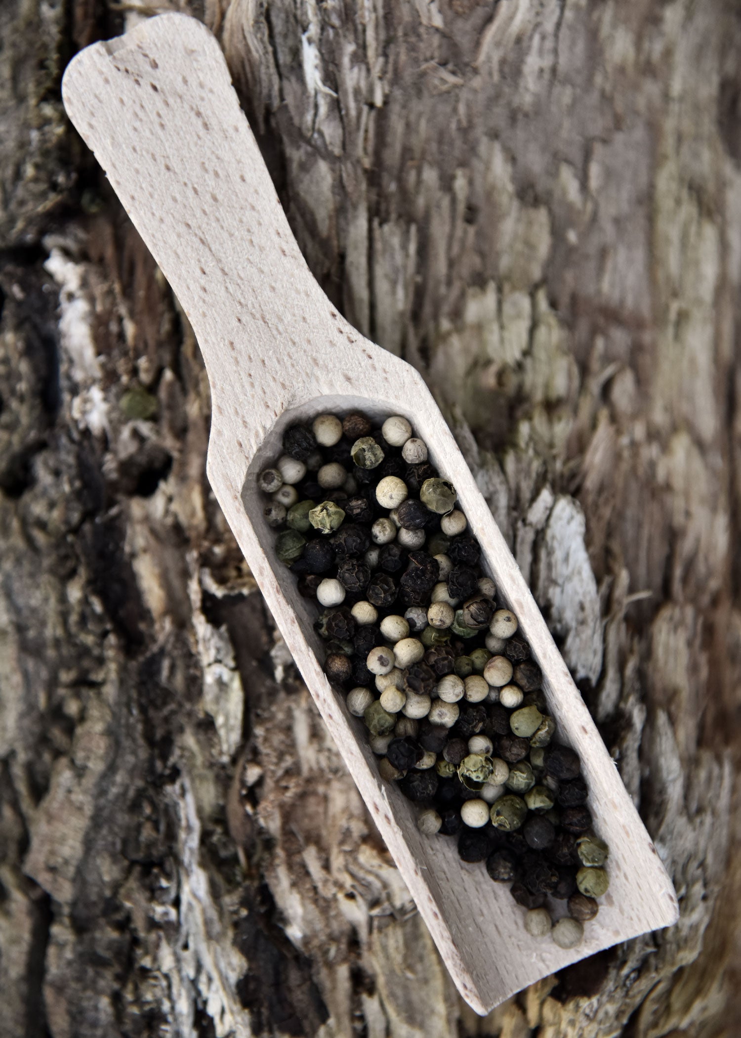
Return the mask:
[[181,9],[318,279],[448,415],[682,917],[486,1019],[458,999],[205,482],[193,335],[61,109],[68,57],[155,8],[4,0],[0,1035],[734,1035],[741,8]]

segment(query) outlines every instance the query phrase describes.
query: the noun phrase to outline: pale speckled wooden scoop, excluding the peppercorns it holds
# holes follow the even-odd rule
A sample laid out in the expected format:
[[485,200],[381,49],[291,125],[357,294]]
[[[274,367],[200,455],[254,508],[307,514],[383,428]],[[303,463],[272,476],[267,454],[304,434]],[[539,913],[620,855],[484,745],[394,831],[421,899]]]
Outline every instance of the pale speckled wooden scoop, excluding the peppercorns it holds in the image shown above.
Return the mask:
[[[440,411],[417,372],[363,338],[317,284],[216,39],[186,16],[153,18],[78,54],[62,92],[195,330],[213,401],[211,485],[463,998],[487,1013],[570,962],[675,923],[671,882]],[[462,863],[455,840],[418,831],[415,809],[379,777],[362,722],[322,671],[315,604],[274,553],[256,476],[281,454],[287,426],[353,408],[407,417],[455,484],[543,670],[559,737],[581,756],[611,855],[610,889],[579,948],[530,937],[506,886]]]

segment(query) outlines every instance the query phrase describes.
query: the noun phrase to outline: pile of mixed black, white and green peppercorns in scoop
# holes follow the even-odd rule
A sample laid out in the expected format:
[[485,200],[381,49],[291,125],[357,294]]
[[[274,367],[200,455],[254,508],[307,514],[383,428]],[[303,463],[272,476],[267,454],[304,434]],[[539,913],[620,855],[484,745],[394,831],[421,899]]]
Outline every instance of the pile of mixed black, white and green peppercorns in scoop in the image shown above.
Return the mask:
[[377,429],[322,414],[291,427],[283,450],[259,475],[265,516],[322,609],[325,673],[381,775],[419,805],[422,832],[457,839],[464,862],[510,884],[528,933],[575,947],[607,890],[607,845],[455,487],[399,416]]

